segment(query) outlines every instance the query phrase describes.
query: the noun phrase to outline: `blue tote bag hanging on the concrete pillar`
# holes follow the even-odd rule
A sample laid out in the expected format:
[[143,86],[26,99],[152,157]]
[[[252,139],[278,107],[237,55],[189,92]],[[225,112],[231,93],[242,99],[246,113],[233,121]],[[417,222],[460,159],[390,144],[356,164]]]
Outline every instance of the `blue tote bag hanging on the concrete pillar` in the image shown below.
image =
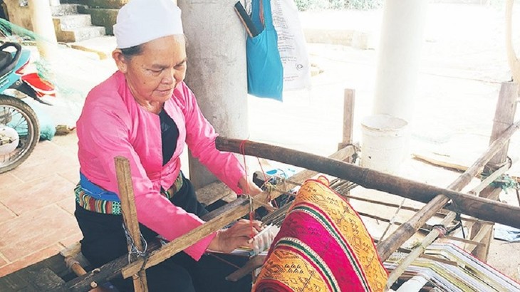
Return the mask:
[[[260,11],[264,12],[264,24],[261,22]],[[253,0],[251,19],[261,33],[253,37],[248,36],[246,41],[247,92],[259,98],[281,101],[284,67],[278,51],[278,35],[271,16],[271,1]]]

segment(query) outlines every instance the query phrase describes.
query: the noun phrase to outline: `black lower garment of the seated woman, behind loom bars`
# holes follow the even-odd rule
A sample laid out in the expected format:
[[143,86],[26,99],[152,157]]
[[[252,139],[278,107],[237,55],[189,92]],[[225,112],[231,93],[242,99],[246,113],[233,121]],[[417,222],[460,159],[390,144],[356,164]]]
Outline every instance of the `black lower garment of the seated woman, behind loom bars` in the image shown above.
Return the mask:
[[[201,217],[207,210],[197,201],[192,184],[184,179],[182,188],[171,199],[177,207],[182,207],[190,213]],[[123,217],[120,215],[100,214],[83,209],[76,204],[76,219],[83,233],[81,252],[93,266],[113,261],[128,254]],[[175,222],[172,222],[175,224]],[[148,242],[154,241],[157,234],[140,224],[142,236]],[[241,266],[246,259],[225,257],[226,261]],[[228,292],[251,291],[251,276],[238,282],[225,280],[225,276],[236,271],[236,267],[217,259],[212,255],[204,255],[199,261],[194,261],[184,252],[180,252],[161,264],[146,269],[149,291],[179,291],[179,292]],[[132,279],[122,277],[110,280],[119,291],[133,291]]]

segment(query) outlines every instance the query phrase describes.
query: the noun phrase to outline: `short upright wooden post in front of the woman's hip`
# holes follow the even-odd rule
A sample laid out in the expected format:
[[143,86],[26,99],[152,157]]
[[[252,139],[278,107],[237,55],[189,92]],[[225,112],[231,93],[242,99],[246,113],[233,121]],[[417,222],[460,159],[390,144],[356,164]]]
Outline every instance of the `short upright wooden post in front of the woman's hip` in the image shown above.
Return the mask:
[[[132,241],[138,250],[143,251],[141,242],[141,232],[139,230],[139,222],[137,221],[137,210],[135,209],[134,189],[132,186],[132,175],[130,174],[130,162],[125,157],[115,157],[115,174],[118,177],[119,196],[121,200],[121,213],[125,226],[128,229]],[[131,246],[128,245],[128,251]],[[143,251],[144,252],[144,251]],[[145,269],[139,269],[133,274],[134,290],[136,292],[147,292],[148,285],[146,281]]]

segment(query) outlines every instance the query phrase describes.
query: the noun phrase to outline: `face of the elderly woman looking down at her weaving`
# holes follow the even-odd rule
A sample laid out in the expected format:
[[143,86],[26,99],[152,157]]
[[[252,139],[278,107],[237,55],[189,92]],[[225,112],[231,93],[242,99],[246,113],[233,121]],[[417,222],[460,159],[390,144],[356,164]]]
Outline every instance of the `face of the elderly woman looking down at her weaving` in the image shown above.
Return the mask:
[[[118,62],[119,59],[119,62]],[[165,36],[142,46],[142,53],[116,58],[137,101],[164,103],[186,75],[184,36]]]

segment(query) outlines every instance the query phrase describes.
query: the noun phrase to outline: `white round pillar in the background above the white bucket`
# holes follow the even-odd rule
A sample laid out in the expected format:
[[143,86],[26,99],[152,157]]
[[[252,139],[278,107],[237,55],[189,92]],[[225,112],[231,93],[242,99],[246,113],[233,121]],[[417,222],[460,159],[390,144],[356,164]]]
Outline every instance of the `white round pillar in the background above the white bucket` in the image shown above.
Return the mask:
[[410,122],[428,0],[385,0],[375,79],[374,114]]

